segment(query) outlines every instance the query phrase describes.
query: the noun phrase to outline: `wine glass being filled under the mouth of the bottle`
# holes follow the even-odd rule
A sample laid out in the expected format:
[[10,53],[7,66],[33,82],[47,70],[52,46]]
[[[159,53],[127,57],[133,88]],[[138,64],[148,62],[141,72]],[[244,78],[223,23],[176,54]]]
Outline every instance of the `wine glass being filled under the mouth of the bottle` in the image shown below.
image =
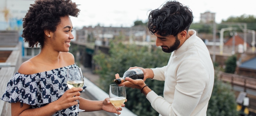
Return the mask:
[[[125,86],[123,84],[112,84],[109,86],[109,99],[110,102],[116,107],[116,110],[118,107],[121,107],[121,105],[126,100],[126,91]],[[118,112],[118,110],[117,110]],[[119,116],[117,114],[117,116]]]

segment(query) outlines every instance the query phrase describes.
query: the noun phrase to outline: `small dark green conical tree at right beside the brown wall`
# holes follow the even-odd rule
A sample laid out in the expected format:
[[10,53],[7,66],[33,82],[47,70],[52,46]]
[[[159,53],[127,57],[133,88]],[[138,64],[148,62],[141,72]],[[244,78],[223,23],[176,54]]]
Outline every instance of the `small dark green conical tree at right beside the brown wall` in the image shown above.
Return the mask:
[[236,69],[236,55],[228,57],[228,59],[225,61],[225,65],[225,73],[234,73]]

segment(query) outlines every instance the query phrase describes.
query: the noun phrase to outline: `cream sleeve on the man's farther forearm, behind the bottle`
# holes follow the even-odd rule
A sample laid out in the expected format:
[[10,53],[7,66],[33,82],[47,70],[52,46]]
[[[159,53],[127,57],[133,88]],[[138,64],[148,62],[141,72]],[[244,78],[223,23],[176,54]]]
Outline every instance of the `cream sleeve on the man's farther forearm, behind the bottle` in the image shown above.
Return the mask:
[[165,81],[165,69],[167,66],[161,67],[161,68],[152,68],[152,71],[154,73],[154,80],[158,81]]

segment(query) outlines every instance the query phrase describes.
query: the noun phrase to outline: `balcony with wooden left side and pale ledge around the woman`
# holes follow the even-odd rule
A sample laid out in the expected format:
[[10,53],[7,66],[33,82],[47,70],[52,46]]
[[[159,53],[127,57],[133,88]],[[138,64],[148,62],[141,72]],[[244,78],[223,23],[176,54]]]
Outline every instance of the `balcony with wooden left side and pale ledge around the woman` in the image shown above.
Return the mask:
[[[6,90],[7,83],[14,75],[18,72],[20,65],[23,63],[22,59],[22,43],[18,41],[19,36],[17,31],[0,31],[0,95]],[[86,68],[83,68],[86,74]],[[88,72],[88,71],[87,71]],[[93,76],[93,75],[91,75]],[[85,77],[88,77],[86,75]],[[94,78],[94,77],[88,77]],[[99,87],[94,85],[91,81],[85,78],[84,83],[87,88],[85,92],[81,93],[81,97],[89,100],[104,100],[109,95],[108,93],[101,90]],[[0,96],[2,97],[2,96]],[[127,108],[123,108],[121,111],[122,116],[137,116]],[[95,112],[81,112],[79,116],[116,116],[117,114],[109,113],[106,111],[95,111]],[[11,116],[11,104],[0,100],[0,116]]]

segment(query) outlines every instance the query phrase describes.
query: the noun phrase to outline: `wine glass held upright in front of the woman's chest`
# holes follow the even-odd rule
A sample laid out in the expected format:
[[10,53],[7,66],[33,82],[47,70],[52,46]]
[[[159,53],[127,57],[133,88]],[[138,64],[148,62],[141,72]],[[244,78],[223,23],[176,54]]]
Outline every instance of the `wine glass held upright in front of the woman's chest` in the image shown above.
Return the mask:
[[[67,87],[69,89],[74,87],[83,87],[83,75],[81,68],[67,69]],[[76,100],[78,102],[78,100]],[[79,104],[76,104],[76,109],[71,112],[82,112],[85,110],[79,109]]]

